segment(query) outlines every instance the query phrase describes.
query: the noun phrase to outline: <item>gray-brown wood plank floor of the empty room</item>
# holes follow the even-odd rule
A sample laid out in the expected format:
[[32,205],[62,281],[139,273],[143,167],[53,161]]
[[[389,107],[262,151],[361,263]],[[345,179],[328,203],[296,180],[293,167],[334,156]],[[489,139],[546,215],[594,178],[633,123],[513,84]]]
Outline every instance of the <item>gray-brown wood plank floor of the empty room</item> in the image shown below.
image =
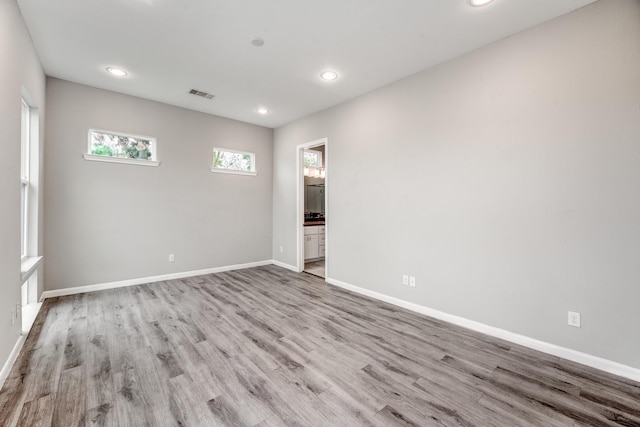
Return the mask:
[[2,426],[640,426],[640,384],[275,266],[47,299]]

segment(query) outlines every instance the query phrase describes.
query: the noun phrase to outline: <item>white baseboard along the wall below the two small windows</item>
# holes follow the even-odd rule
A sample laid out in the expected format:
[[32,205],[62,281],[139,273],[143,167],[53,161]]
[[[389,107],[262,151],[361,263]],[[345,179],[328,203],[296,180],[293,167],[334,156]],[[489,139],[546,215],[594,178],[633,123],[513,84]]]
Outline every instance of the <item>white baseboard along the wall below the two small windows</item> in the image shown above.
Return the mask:
[[226,265],[223,267],[206,268],[204,270],[183,271],[179,273],[163,274],[160,276],[141,277],[138,279],[120,280],[117,282],[100,283],[97,285],[77,286],[75,288],[55,289],[44,291],[40,301],[47,298],[61,297],[65,295],[82,294],[85,292],[104,291],[106,289],[123,288],[126,286],[142,285],[145,283],[162,282],[164,280],[184,279],[185,277],[202,276],[204,274],[222,273],[223,271],[241,270],[243,268],[260,267],[270,265],[271,260],[250,262],[246,264]]

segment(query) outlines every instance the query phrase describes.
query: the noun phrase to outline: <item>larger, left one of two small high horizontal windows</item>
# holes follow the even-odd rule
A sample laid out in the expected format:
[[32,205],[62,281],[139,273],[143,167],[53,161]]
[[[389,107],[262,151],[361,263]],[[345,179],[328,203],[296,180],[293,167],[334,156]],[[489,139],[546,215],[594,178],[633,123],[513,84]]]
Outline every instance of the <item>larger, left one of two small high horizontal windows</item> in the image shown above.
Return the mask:
[[151,136],[89,129],[87,160],[158,166],[158,144]]

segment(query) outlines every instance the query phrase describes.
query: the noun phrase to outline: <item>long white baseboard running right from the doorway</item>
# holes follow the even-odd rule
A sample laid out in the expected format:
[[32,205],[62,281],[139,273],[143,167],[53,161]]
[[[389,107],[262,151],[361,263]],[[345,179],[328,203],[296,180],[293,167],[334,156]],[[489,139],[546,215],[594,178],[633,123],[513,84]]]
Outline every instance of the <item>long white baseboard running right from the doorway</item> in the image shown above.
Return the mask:
[[484,323],[475,322],[473,320],[465,319],[464,317],[454,316],[452,314],[444,313],[442,311],[434,310],[429,307],[407,302],[398,298],[390,297],[378,292],[370,291],[368,289],[361,288],[359,286],[351,285],[349,283],[341,282],[340,280],[327,278],[327,283],[338,286],[349,291],[366,295],[368,297],[388,302],[393,305],[397,305],[407,310],[414,311],[416,313],[424,314],[445,322],[453,323],[454,325],[462,326],[467,329],[471,329],[476,332],[481,332],[496,338],[503,339],[515,344],[522,345],[534,350],[541,351],[543,353],[551,354],[553,356],[561,357],[563,359],[571,360],[573,362],[580,363],[582,365],[590,366],[592,368],[599,369],[601,371],[609,372],[614,375],[629,378],[634,381],[640,381],[640,369],[631,366],[623,365],[618,362],[603,359],[601,357],[593,356],[587,353],[582,353],[570,348],[561,347],[559,345],[551,344],[548,342],[540,341],[534,338],[530,338],[524,335],[509,332],[504,329],[496,328],[493,326],[485,325]]

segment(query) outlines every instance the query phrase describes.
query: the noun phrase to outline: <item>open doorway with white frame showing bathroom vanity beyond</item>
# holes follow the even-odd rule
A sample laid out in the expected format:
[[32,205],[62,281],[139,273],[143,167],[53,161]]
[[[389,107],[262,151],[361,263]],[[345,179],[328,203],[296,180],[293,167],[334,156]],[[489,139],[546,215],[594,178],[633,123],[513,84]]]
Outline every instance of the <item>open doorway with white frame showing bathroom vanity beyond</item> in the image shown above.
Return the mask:
[[327,277],[328,139],[300,144],[297,150],[297,228],[299,272]]

